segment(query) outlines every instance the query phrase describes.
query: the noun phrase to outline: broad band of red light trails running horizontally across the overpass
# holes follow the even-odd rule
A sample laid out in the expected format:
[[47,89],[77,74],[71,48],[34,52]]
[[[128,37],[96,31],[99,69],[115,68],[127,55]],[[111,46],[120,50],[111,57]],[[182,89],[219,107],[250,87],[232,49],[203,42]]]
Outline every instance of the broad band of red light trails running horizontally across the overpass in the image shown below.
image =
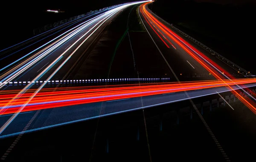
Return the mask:
[[[240,85],[256,83],[256,79],[239,79],[223,81],[202,81],[202,82],[182,82],[162,85],[142,85],[103,88],[104,86],[93,87],[93,89],[85,90],[70,90],[54,91],[54,92],[39,92],[39,89],[34,93],[23,94],[22,97],[15,100],[8,108],[4,107],[15,94],[1,95],[0,109],[1,115],[13,114],[16,112],[34,111],[46,108],[56,108],[62,106],[79,105],[92,102],[111,101],[119,99],[128,99],[134,97],[144,97],[157,94],[167,94],[182,91],[193,91],[207,88],[224,87],[227,84]],[[41,85],[41,88],[44,85]],[[9,91],[6,91],[9,92]],[[32,96],[31,96],[32,95]],[[28,102],[29,100],[29,102]],[[26,107],[25,107],[26,106]],[[21,109],[20,109],[21,108]]]

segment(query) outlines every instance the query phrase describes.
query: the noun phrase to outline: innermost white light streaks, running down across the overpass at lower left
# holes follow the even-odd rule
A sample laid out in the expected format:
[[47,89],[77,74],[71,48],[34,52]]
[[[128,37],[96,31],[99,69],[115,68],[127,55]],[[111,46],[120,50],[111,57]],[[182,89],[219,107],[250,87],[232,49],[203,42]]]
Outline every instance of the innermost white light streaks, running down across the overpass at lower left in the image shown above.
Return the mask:
[[[145,1],[144,1],[145,2]],[[115,9],[112,9],[106,13],[105,13],[105,17],[99,21],[99,23],[101,23],[103,20],[103,23],[108,20],[110,17],[112,17],[116,12],[118,12],[121,9],[124,9],[125,7],[134,5],[134,4],[139,4],[139,3],[144,3],[144,2],[136,2],[136,3],[131,3],[131,4],[126,4],[120,7],[117,7]],[[92,28],[89,29],[89,31],[86,32],[86,34],[88,34],[91,30],[93,30],[93,28],[95,28],[99,23],[97,23],[96,25],[94,25]],[[69,57],[67,57],[67,59],[50,75],[50,77],[48,77],[47,81],[67,62],[67,60],[70,59],[70,57],[77,51],[77,49],[100,27],[102,26],[101,23],[77,48],[75,51],[73,51],[72,54],[70,54]],[[44,69],[44,71],[42,71],[37,77],[35,77],[35,79],[32,80],[32,82],[35,82],[36,80],[38,80],[38,78],[42,77],[42,75],[49,70],[49,68],[51,68],[58,60],[60,60],[60,58],[70,49],[72,48],[79,40],[81,40],[86,34],[84,34],[82,37],[80,37],[75,43],[73,43],[73,45],[71,45],[66,51],[64,51],[64,53],[62,53],[54,62],[52,62],[46,69]],[[11,81],[11,80],[10,80]],[[23,93],[25,93],[32,85],[32,82],[29,83],[28,85],[26,85],[25,88],[23,88],[13,99],[11,99],[6,105],[5,108],[7,108],[8,106],[12,105],[13,102],[15,102],[16,99],[18,99]],[[6,84],[6,83],[4,83]],[[46,82],[44,82],[44,84],[42,84],[37,91],[35,91],[35,93],[27,100],[26,104],[24,104],[19,111],[17,111],[14,115],[12,115],[12,117],[9,118],[9,120],[0,128],[0,134],[6,129],[6,127],[15,119],[15,117],[17,117],[17,115],[20,113],[20,111],[23,110],[23,108],[26,107],[26,105],[33,99],[33,97],[35,97],[35,95],[41,90],[41,88],[44,87],[44,85],[46,84]],[[0,87],[1,88],[1,87]],[[6,109],[1,109],[0,113]]]

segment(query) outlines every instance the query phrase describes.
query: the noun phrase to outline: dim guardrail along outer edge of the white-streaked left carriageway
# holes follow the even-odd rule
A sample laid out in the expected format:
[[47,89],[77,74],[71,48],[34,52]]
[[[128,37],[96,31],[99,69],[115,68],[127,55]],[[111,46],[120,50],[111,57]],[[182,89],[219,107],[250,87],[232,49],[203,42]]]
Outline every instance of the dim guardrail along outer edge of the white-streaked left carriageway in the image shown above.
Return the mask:
[[98,13],[98,12],[101,12],[101,11],[105,11],[106,9],[111,9],[113,7],[116,7],[116,6],[120,6],[121,4],[119,5],[114,5],[114,6],[109,6],[109,7],[105,7],[103,9],[98,9],[98,10],[94,10],[94,11],[90,11],[90,12],[87,12],[86,14],[80,14],[78,16],[74,16],[74,17],[70,17],[68,19],[65,19],[65,20],[61,20],[61,21],[58,21],[58,22],[55,22],[55,23],[51,23],[51,24],[48,24],[48,25],[45,25],[45,26],[42,26],[42,27],[39,27],[39,28],[35,28],[33,30],[33,33],[34,35],[38,35],[38,34],[42,34],[46,31],[49,31],[49,30],[52,30],[54,28],[57,28],[61,25],[64,25],[66,23],[69,23],[69,22],[72,22],[72,21],[75,21],[75,20],[78,20],[82,17],[86,17],[88,15],[91,15],[91,14],[95,14],[95,13]]

